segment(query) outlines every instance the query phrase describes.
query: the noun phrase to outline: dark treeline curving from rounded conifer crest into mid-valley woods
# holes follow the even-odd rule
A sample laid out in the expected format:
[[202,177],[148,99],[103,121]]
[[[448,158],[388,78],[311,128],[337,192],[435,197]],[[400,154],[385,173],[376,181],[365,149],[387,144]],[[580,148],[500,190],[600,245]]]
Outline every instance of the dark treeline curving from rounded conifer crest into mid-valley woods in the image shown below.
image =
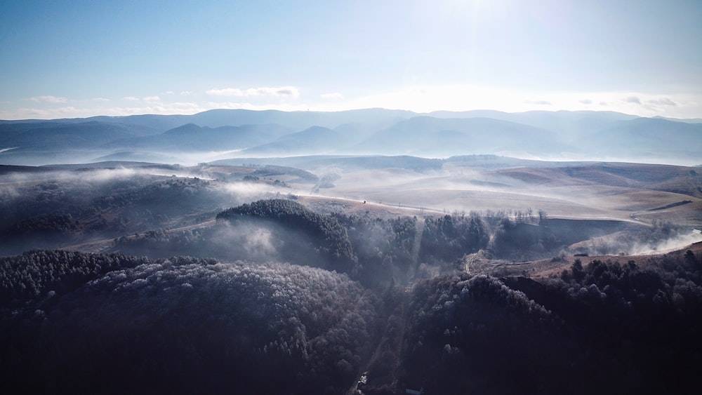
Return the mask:
[[[400,272],[406,274],[413,272],[417,262],[453,262],[482,249],[489,249],[498,258],[512,259],[545,256],[562,247],[548,227],[532,223],[536,217],[531,210],[517,211],[515,218],[509,214],[491,211],[489,216],[477,212],[429,216],[420,226],[416,217],[383,220],[342,213],[321,215],[295,201],[268,199],[229,208],[217,219],[271,220],[310,235],[317,248],[334,257],[375,269],[384,265],[385,269],[378,270],[388,273],[397,272],[397,268],[390,269],[392,265],[404,266]],[[543,211],[539,220],[545,224]]]

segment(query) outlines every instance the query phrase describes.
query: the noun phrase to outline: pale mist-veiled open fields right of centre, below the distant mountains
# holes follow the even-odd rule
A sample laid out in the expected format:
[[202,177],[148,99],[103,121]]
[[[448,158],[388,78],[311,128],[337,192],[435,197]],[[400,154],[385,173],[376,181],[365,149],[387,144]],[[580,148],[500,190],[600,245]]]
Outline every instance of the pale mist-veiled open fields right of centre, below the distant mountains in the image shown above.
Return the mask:
[[319,195],[433,213],[532,208],[545,210],[550,217],[644,223],[656,219],[702,226],[701,177],[694,168],[681,166],[591,163],[498,170],[444,165],[424,173],[399,168],[335,170],[333,187],[319,189]]

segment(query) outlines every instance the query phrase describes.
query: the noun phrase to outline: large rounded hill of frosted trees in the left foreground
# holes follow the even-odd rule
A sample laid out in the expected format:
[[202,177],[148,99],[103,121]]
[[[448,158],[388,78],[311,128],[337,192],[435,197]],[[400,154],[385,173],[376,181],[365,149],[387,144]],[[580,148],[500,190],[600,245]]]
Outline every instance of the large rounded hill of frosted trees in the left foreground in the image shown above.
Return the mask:
[[[32,254],[47,269],[92,257]],[[372,352],[382,305],[343,274],[294,265],[173,258],[94,273],[0,316],[6,389],[339,394]]]

